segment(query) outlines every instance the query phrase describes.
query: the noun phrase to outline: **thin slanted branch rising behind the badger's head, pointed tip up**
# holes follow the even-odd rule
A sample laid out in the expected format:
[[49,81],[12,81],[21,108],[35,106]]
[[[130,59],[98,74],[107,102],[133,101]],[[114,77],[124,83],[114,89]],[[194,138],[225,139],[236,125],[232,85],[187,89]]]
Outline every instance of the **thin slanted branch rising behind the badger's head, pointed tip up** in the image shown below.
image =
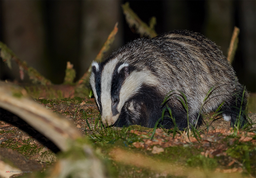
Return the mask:
[[[104,43],[104,45],[100,49],[100,52],[98,53],[98,55],[96,56],[94,61],[101,62],[102,59],[103,59],[104,54],[109,50],[110,46],[113,44],[114,39],[115,39],[115,35],[118,32],[117,25],[118,25],[118,22],[116,22],[116,24],[114,26],[114,29],[109,34],[108,39],[106,40],[106,42]],[[78,80],[77,86],[81,85],[84,81],[87,81],[88,78],[89,78],[90,73],[91,73],[91,66],[89,67],[87,72],[82,76],[82,78],[80,78],[80,80]]]

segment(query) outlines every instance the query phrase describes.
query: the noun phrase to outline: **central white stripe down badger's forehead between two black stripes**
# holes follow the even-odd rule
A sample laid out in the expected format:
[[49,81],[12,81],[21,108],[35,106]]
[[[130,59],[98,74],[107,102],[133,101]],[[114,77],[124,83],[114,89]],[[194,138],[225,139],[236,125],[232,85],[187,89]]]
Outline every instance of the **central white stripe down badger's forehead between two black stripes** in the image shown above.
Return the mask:
[[[118,59],[113,59],[106,63],[101,74],[101,106],[102,117],[112,117],[112,102],[111,102],[111,80],[114,72],[114,66]],[[102,119],[103,121],[103,119]]]

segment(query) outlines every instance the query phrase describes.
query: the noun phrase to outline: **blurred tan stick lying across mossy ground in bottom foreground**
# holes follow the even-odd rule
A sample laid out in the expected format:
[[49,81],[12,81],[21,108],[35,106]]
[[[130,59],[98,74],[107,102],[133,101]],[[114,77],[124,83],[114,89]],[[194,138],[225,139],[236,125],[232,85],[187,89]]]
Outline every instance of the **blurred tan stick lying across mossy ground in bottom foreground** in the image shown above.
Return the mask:
[[[154,146],[155,149],[159,149]],[[153,147],[153,150],[154,150]],[[133,153],[121,148],[113,148],[109,156],[112,160],[117,162],[122,162],[126,165],[134,165],[138,168],[149,169],[151,171],[156,171],[161,175],[168,174],[175,177],[241,177],[240,174],[243,171],[242,168],[232,168],[221,170],[219,168],[215,170],[204,171],[198,167],[186,167],[182,166],[179,163],[171,163],[163,160],[154,159],[152,157],[145,156],[141,153]],[[140,169],[137,172],[141,172]],[[232,173],[232,174],[225,174]]]

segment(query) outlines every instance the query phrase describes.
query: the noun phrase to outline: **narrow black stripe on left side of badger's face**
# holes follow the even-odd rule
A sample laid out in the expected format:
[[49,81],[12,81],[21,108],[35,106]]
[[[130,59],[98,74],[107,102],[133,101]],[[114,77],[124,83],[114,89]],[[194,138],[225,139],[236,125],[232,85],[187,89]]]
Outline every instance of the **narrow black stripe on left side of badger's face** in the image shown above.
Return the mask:
[[95,82],[95,90],[96,94],[98,96],[98,103],[99,103],[99,109],[100,112],[102,113],[102,106],[101,106],[101,72],[102,72],[102,67],[99,69],[100,71],[96,70],[96,67],[92,67],[92,72],[94,73],[94,82]]

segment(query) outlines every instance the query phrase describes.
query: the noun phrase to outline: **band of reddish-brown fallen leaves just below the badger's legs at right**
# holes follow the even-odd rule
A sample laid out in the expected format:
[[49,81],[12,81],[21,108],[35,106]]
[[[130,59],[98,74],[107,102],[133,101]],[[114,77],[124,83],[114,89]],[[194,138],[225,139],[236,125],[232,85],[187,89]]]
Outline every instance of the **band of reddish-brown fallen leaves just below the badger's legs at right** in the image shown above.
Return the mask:
[[[184,145],[187,143],[201,143],[199,147],[205,147],[206,151],[204,153],[201,153],[202,155],[205,155],[206,157],[213,157],[213,156],[220,156],[223,155],[223,151],[227,149],[226,143],[218,143],[223,138],[226,138],[228,135],[234,134],[234,131],[232,129],[215,129],[215,130],[209,130],[208,133],[201,133],[199,136],[193,136],[190,133],[187,132],[181,132],[181,134],[176,133],[173,137],[173,134],[166,134],[162,129],[156,129],[154,139],[151,140],[151,133],[147,133],[145,131],[140,132],[138,130],[131,130],[130,133],[134,133],[140,138],[142,138],[141,141],[134,142],[133,146],[136,148],[145,148],[146,150],[152,150],[152,146],[159,145],[162,148],[175,146],[175,145]],[[255,144],[255,139],[252,137],[255,136],[255,133],[253,132],[237,132],[237,137],[240,142],[253,142]],[[229,139],[229,144],[231,145],[235,140],[234,138]],[[207,147],[210,147],[213,143],[218,143],[218,145],[215,148],[211,148],[210,150],[207,150]]]

